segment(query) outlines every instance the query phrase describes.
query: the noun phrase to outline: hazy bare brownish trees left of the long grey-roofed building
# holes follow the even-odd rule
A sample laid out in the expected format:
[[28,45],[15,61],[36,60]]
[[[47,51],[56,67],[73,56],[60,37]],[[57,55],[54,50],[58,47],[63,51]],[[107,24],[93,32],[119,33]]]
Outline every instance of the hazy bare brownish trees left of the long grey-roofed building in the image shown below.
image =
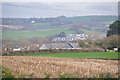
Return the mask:
[[49,43],[48,38],[32,37],[29,39],[21,38],[19,40],[2,40],[2,51],[11,51],[12,49],[24,48],[29,50],[39,49],[44,43]]

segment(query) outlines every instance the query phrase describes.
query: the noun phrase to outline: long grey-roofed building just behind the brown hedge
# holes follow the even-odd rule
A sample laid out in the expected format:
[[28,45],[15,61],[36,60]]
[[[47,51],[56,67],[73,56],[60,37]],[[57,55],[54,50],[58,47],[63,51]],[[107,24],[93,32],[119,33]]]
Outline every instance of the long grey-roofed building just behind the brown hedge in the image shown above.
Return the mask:
[[43,44],[39,49],[76,49],[80,48],[78,43],[73,42],[52,42]]

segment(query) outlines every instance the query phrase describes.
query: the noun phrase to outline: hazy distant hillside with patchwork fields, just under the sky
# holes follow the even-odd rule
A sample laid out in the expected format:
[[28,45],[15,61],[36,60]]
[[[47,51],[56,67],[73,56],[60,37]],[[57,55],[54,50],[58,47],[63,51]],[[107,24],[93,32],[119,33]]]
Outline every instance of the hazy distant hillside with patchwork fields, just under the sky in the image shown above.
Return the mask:
[[[17,34],[22,37],[22,33],[29,32],[31,30],[33,33],[35,31],[39,31],[38,35],[34,34],[34,36],[45,37],[54,34],[58,34],[61,32],[68,33],[103,33],[106,34],[109,29],[109,25],[117,20],[117,16],[76,16],[76,17],[65,17],[59,16],[55,18],[2,18],[2,28],[4,31],[4,36],[12,35],[15,37]],[[65,29],[64,29],[65,28]],[[51,29],[54,31],[52,34]],[[45,31],[47,30],[47,31]],[[16,34],[14,36],[14,31]],[[16,32],[18,31],[18,32]],[[42,32],[45,31],[44,35]],[[20,33],[19,33],[20,32]],[[47,34],[49,32],[49,34]],[[47,34],[47,35],[46,35]],[[41,35],[41,36],[40,36]],[[4,37],[3,36],[3,37]],[[33,36],[33,37],[34,37]],[[19,36],[18,36],[19,37]],[[24,36],[24,37],[27,37]]]

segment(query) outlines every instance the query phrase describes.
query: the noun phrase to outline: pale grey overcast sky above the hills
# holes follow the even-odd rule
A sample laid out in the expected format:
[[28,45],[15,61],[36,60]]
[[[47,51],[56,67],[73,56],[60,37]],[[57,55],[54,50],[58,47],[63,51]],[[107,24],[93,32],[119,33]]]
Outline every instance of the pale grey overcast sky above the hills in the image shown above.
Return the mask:
[[2,17],[117,15],[117,2],[3,2]]

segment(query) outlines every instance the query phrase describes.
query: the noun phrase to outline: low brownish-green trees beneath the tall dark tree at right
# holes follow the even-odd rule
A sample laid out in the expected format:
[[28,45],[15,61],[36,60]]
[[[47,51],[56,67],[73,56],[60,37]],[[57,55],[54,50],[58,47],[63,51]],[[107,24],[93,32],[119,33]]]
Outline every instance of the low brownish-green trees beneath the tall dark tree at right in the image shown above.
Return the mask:
[[86,39],[86,40],[76,40],[81,48],[103,48],[103,49],[113,49],[118,48],[118,35],[111,35],[102,39]]

